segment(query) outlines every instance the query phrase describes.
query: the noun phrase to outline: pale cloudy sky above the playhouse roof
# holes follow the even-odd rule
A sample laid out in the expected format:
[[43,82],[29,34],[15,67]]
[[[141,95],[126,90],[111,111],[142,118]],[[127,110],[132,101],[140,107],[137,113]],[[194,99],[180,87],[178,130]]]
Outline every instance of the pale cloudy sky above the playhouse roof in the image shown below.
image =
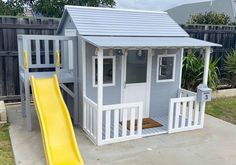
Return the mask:
[[121,9],[165,11],[178,5],[203,1],[210,0],[116,0],[116,7]]

